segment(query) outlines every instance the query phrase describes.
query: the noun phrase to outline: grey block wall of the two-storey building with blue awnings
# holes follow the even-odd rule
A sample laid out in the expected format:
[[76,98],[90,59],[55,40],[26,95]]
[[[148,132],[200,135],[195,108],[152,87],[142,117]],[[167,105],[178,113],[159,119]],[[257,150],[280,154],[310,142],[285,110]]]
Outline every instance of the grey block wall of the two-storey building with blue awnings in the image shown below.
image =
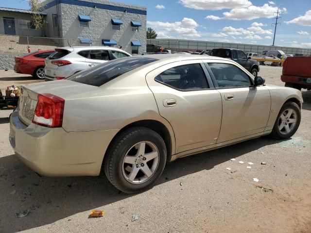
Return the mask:
[[[106,0],[85,1],[146,11],[145,7],[116,3]],[[42,2],[42,5],[49,5],[51,2],[51,0],[46,0]],[[114,39],[117,41],[118,45],[122,46],[123,50],[129,53],[132,52],[131,41],[140,41],[141,47],[139,47],[138,52],[141,54],[146,51],[146,15],[105,10],[74,4],[60,3],[58,5],[60,5],[60,37],[69,39],[78,39],[79,37],[90,38],[92,41],[94,41],[92,45],[96,46],[102,45],[102,39]],[[50,33],[52,25],[52,14],[55,14],[55,11],[56,6],[52,6],[44,10],[44,12],[48,13],[47,20],[50,25]],[[89,22],[88,28],[79,27],[78,15],[86,15],[91,17],[92,20]],[[123,24],[120,26],[120,31],[112,30],[112,18],[119,18],[123,21]],[[131,21],[138,21],[141,23],[142,26],[139,27],[138,32],[132,32]],[[74,45],[79,45],[78,40],[77,43],[74,43]]]

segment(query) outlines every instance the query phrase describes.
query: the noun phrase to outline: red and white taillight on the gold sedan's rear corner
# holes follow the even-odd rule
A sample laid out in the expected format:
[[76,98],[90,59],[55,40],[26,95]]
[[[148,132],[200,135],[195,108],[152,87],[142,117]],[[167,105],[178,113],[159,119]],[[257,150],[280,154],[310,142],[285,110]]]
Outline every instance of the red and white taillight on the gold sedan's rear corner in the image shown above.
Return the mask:
[[65,100],[52,94],[38,94],[33,123],[50,128],[62,127]]

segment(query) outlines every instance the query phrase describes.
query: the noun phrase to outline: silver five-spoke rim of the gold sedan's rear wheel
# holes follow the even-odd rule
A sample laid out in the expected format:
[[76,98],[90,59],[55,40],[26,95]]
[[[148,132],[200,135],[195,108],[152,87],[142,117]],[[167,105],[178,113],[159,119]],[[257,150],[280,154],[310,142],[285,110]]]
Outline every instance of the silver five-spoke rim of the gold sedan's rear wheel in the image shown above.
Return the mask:
[[159,151],[155,144],[141,141],[127,151],[122,163],[122,173],[129,183],[144,183],[155,174],[158,164]]

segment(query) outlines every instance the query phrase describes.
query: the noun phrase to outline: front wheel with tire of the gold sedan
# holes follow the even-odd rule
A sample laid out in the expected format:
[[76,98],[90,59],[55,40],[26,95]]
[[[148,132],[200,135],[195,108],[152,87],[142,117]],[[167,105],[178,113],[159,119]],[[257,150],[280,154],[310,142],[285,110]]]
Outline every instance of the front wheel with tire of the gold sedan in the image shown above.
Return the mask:
[[287,139],[296,133],[301,119],[300,108],[295,102],[285,103],[273,127],[271,136],[276,139]]

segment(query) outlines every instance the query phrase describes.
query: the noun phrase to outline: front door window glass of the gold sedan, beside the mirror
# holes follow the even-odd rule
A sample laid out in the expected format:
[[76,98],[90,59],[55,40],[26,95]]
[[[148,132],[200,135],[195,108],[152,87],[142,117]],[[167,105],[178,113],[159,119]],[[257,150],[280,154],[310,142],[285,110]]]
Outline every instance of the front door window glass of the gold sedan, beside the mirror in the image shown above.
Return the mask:
[[252,85],[248,75],[239,67],[224,63],[208,63],[219,87],[237,87]]

